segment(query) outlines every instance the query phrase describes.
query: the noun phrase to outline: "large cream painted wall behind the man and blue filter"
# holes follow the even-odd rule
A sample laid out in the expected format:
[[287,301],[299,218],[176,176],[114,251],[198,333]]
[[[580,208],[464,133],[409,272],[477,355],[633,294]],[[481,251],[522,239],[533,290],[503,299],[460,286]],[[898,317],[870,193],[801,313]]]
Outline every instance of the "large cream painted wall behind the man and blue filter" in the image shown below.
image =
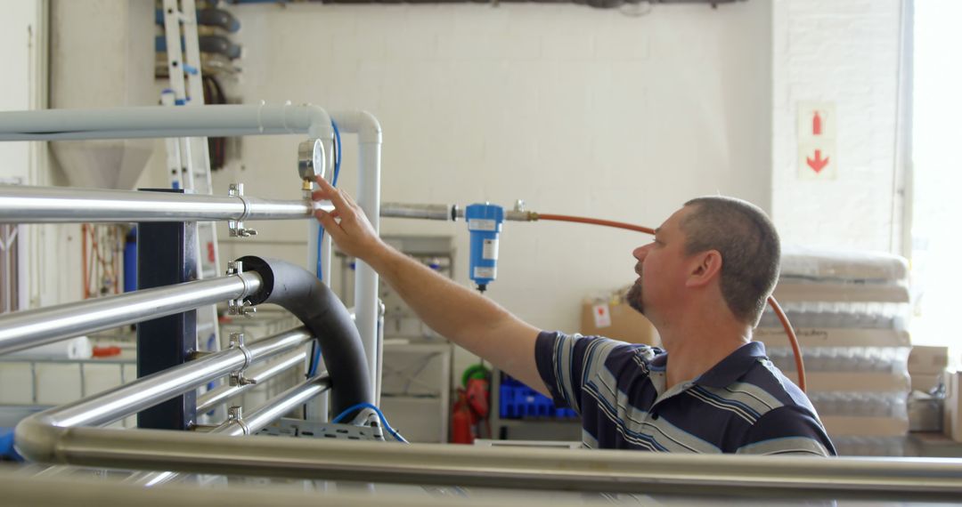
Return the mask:
[[[580,6],[234,9],[244,101],[372,111],[384,127],[385,201],[491,201],[657,226],[684,201],[735,195],[771,208],[771,5],[663,6],[644,17]],[[355,187],[345,137],[342,181]],[[244,140],[250,195],[297,198],[294,136]],[[386,219],[385,233],[467,230]],[[264,227],[233,254],[297,262],[303,224]],[[224,236],[226,237],[226,235]],[[263,241],[279,241],[266,246]],[[509,223],[488,293],[535,326],[576,330],[581,300],[632,281],[648,238]]]

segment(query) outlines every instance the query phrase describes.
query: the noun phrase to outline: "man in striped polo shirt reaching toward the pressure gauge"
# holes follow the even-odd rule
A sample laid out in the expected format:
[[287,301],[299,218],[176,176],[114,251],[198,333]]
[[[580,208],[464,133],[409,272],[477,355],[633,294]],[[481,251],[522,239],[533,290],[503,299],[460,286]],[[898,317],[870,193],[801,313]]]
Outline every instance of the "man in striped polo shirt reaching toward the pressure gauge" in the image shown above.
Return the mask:
[[[418,316],[581,415],[585,447],[831,455],[808,398],[751,341],[778,277],[778,236],[745,202],[687,203],[634,251],[631,305],[664,350],[545,332],[393,250],[346,193],[321,179],[317,220],[369,264]],[[671,356],[671,362],[669,357]]]

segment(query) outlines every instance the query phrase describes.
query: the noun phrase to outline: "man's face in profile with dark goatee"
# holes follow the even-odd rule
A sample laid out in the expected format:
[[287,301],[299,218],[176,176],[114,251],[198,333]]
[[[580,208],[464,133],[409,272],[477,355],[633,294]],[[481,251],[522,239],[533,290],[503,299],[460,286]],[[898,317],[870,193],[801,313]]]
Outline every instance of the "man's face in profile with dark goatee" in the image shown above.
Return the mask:
[[670,309],[685,286],[686,238],[681,222],[690,212],[687,206],[675,211],[660,228],[655,229],[651,243],[632,252],[638,259],[635,264],[638,279],[628,291],[627,301],[649,318]]

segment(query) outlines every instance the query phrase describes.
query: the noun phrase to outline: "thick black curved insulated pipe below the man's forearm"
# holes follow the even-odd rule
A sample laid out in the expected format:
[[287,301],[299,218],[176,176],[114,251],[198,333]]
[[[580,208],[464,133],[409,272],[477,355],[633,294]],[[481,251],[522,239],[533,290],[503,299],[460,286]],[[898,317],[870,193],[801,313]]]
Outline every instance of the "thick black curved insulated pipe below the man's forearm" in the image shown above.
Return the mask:
[[[358,403],[373,403],[367,357],[361,334],[350,312],[313,274],[279,259],[247,255],[238,259],[243,271],[261,276],[261,290],[247,298],[284,307],[311,330],[331,375],[331,406],[335,414]],[[348,416],[347,421],[353,414]]]

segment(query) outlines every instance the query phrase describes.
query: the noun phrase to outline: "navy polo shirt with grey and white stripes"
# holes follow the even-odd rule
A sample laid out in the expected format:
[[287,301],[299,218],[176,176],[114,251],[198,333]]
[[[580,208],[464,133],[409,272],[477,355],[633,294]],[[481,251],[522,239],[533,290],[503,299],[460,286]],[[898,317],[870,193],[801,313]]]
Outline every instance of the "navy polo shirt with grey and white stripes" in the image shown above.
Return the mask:
[[834,455],[811,402],[749,342],[666,389],[665,350],[543,331],[535,360],[559,407],[581,416],[590,448]]

